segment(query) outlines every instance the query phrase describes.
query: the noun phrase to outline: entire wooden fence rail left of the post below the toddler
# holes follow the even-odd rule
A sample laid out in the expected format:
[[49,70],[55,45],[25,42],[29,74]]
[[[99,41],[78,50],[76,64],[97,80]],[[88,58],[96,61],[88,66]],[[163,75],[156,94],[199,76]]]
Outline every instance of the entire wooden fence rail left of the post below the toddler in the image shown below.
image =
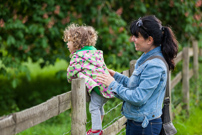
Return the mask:
[[0,118],[0,135],[14,135],[71,108],[71,91],[50,100]]

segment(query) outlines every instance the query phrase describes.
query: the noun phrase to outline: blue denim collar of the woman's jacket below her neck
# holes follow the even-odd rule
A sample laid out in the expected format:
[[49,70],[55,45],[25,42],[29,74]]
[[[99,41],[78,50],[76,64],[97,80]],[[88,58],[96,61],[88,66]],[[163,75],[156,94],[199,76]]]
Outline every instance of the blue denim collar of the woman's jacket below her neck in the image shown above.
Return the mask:
[[161,46],[154,48],[153,50],[149,51],[148,53],[143,53],[142,56],[138,59],[137,64],[140,66],[146,59],[154,55],[161,55]]

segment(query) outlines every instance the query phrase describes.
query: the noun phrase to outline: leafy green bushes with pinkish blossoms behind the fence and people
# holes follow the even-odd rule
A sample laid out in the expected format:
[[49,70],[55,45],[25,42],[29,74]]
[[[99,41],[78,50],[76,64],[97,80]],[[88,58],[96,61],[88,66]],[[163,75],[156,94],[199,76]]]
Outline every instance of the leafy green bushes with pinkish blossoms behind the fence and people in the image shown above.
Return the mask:
[[70,23],[95,27],[96,47],[116,70],[141,54],[128,31],[141,16],[156,15],[172,27],[180,49],[202,41],[202,0],[6,0],[0,9],[0,116],[70,90],[69,52],[62,40]]

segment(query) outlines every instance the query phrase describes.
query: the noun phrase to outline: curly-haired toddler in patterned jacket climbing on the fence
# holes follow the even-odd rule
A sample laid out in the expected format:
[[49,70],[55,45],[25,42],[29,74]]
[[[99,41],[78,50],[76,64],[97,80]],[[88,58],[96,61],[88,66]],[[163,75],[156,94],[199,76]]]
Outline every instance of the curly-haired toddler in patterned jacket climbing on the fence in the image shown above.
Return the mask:
[[103,106],[109,98],[114,97],[107,87],[96,79],[98,74],[109,74],[103,52],[94,47],[97,37],[97,32],[91,26],[71,24],[64,31],[64,41],[71,53],[67,80],[71,82],[74,78],[85,78],[87,91],[91,96],[89,111],[92,129],[86,135],[102,135]]

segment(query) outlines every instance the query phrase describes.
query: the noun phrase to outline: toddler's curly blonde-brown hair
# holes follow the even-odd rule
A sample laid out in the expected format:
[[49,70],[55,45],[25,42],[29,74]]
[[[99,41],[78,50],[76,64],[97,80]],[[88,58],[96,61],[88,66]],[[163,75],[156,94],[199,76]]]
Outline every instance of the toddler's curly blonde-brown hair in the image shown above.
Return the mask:
[[73,42],[76,50],[84,46],[95,46],[97,41],[97,31],[91,26],[79,26],[78,24],[71,24],[64,30],[64,42]]

